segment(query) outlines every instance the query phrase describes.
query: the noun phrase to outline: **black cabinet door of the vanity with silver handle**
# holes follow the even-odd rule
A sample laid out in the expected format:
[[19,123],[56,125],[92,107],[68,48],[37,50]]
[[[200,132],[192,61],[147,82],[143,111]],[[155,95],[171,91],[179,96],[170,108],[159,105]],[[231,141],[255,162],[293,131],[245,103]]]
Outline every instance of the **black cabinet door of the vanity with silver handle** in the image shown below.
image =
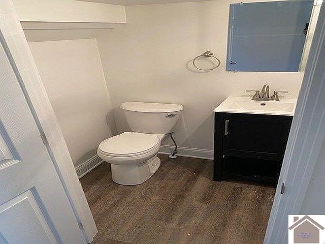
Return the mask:
[[281,160],[290,124],[290,119],[275,116],[224,116],[224,152]]

